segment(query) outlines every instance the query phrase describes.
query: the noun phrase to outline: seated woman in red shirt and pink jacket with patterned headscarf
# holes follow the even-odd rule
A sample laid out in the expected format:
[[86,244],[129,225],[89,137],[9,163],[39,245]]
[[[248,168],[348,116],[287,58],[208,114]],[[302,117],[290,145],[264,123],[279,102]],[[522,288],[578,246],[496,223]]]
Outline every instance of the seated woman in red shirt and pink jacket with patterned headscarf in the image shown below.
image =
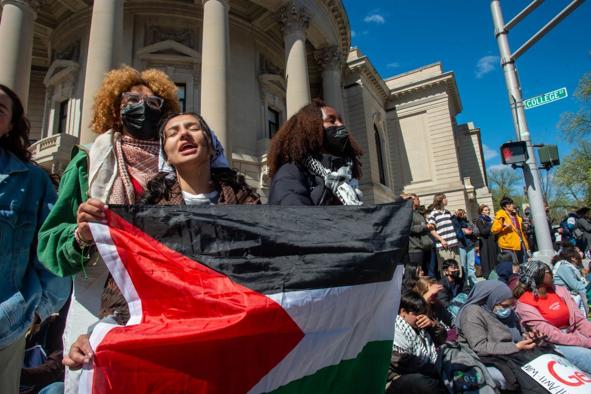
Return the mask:
[[591,373],[591,321],[563,286],[554,285],[552,272],[541,261],[519,266],[518,298],[515,312],[521,325],[548,336],[564,357],[584,372]]

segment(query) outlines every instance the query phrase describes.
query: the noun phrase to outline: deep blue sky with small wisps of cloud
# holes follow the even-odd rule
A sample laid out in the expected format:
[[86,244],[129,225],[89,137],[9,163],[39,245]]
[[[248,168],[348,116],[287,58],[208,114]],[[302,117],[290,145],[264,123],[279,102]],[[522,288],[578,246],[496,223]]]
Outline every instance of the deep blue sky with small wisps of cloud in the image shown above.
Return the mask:
[[[502,0],[505,23],[531,0]],[[570,0],[547,1],[509,32],[515,51]],[[490,2],[343,0],[352,30],[352,46],[368,56],[382,78],[441,61],[454,71],[463,111],[458,123],[474,122],[482,134],[486,167],[501,165],[499,146],[515,141],[499,50],[493,36]],[[572,93],[591,71],[591,1],[584,2],[516,61],[524,99],[566,87],[569,97],[525,111],[534,144],[557,144],[564,156],[570,146],[560,141],[560,113],[576,111]]]

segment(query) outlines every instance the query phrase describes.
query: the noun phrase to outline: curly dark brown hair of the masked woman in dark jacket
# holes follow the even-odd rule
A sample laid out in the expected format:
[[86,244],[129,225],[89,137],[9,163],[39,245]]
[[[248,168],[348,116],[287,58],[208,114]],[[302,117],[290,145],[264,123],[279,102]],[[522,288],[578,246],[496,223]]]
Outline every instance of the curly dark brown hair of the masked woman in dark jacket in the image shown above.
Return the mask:
[[[324,145],[324,122],[322,110],[320,110],[322,107],[327,107],[323,100],[312,100],[311,103],[291,116],[277,131],[271,140],[271,148],[267,158],[271,178],[282,165],[301,162],[308,155],[322,151]],[[353,160],[351,172],[353,178],[356,179],[361,178],[359,157],[362,155],[363,151],[349,133],[349,144],[346,146],[343,157]]]

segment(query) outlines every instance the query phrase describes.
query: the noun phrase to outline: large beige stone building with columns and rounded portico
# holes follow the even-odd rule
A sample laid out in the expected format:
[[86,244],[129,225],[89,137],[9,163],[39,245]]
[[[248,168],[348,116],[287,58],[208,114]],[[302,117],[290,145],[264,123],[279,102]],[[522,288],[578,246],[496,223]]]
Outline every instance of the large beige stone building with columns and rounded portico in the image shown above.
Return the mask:
[[[266,196],[269,141],[311,97],[343,114],[362,149],[366,203],[414,192],[450,209],[492,205],[480,130],[457,125],[453,72],[440,63],[382,79],[340,0],[2,0],[0,83],[27,106],[31,149],[55,172],[92,142],[104,73],[156,68],[185,110],[216,131],[234,167]],[[228,155],[229,156],[229,155]],[[230,157],[229,157],[230,158]]]

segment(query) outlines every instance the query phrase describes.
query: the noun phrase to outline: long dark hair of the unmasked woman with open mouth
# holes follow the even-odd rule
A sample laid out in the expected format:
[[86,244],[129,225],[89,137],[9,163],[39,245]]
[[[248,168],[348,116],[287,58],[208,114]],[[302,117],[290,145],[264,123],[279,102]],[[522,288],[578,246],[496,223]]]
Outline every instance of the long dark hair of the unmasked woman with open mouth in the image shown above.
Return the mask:
[[[164,146],[166,142],[166,133],[165,133],[165,126],[168,121],[173,118],[176,118],[179,115],[193,115],[197,122],[199,122],[199,128],[203,133],[205,140],[207,141],[207,146],[213,146],[213,138],[211,133],[209,132],[210,128],[202,118],[202,116],[198,115],[194,112],[188,113],[168,113],[168,115],[164,116],[161,119],[158,125],[158,131],[160,134],[160,144]],[[167,159],[166,152],[162,149],[164,159]],[[173,167],[171,165],[171,167]],[[174,168],[174,167],[173,167]],[[152,178],[148,184],[146,185],[146,190],[144,194],[142,194],[139,204],[158,204],[161,200],[168,200],[172,196],[174,185],[177,183],[177,176],[176,174],[170,174],[170,172],[160,171],[158,174]],[[246,184],[246,179],[244,175],[238,172],[236,168],[212,168],[212,184],[215,185],[215,188],[218,192],[222,191],[221,184],[227,184],[232,187],[235,192],[239,190],[244,190],[248,194],[258,194],[254,187]]]

